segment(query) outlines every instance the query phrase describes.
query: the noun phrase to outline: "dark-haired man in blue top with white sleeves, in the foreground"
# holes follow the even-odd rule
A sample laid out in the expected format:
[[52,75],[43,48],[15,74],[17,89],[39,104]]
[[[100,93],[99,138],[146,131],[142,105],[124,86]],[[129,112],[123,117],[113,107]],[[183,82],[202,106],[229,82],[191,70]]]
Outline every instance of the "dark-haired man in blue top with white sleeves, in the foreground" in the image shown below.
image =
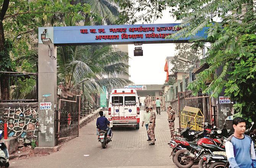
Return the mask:
[[256,156],[253,141],[245,135],[246,121],[241,117],[233,120],[234,134],[225,144],[229,168],[256,168]]

